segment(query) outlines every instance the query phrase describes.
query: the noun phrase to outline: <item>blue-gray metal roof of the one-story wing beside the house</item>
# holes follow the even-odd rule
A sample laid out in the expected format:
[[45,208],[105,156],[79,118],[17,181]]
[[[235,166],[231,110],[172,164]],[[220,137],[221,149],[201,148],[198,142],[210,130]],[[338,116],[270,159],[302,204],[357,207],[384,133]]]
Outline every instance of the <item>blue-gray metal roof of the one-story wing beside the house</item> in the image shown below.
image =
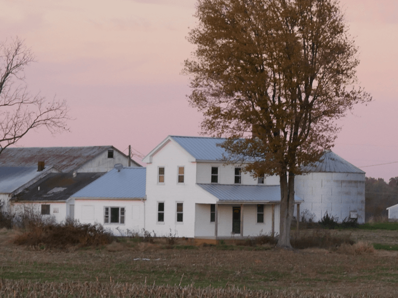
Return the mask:
[[90,183],[72,198],[144,198],[146,168],[124,167],[111,171]]

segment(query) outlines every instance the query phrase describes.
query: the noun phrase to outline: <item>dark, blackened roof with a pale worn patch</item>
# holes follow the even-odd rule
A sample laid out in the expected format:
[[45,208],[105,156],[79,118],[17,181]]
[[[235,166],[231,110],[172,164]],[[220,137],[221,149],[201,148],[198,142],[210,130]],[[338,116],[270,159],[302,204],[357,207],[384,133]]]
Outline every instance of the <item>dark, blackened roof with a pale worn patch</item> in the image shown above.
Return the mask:
[[71,195],[100,178],[104,173],[49,173],[11,201],[66,201]]

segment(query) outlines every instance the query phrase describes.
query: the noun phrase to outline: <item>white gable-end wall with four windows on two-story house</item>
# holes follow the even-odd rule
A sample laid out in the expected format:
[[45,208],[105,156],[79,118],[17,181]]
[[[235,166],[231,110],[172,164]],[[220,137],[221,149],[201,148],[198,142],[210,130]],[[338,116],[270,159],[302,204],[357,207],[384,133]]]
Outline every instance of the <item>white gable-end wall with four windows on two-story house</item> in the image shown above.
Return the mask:
[[[165,168],[164,183],[158,183],[158,167]],[[184,183],[178,183],[178,167],[184,166]],[[197,163],[177,143],[169,142],[152,156],[146,168],[145,229],[157,236],[195,236],[195,205],[215,204],[215,197],[196,185]],[[164,202],[164,222],[159,223],[158,203]],[[177,203],[183,203],[183,222],[177,222]]]

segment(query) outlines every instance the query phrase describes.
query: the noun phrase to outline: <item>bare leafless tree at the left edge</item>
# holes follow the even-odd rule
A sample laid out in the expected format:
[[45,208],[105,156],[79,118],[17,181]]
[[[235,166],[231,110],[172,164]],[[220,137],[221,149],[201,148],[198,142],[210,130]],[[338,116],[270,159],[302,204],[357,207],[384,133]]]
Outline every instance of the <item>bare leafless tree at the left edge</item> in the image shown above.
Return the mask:
[[18,38],[0,43],[0,154],[32,129],[52,134],[68,131],[65,100],[48,100],[27,90],[24,68],[34,62],[31,50]]

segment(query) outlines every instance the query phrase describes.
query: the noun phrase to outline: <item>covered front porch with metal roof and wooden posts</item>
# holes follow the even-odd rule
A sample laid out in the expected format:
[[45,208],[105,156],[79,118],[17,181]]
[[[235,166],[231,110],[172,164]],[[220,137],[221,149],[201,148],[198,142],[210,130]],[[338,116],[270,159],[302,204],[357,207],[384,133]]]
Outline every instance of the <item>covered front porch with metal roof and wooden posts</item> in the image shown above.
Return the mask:
[[[215,204],[196,204],[195,239],[237,240],[279,234],[279,185],[199,185],[212,194]],[[298,206],[302,202],[295,198]]]

